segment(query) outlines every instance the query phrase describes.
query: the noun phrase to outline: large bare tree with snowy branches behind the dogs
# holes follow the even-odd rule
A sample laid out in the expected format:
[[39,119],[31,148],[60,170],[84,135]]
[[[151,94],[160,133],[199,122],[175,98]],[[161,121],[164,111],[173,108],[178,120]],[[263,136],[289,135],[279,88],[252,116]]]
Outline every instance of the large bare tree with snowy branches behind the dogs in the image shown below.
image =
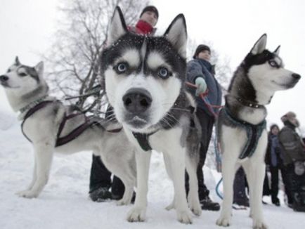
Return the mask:
[[[133,25],[147,0],[67,0],[59,7],[63,13],[55,42],[44,56],[53,93],[71,98],[80,110],[100,106],[98,70],[100,53],[107,39],[108,22],[115,6],[120,6],[127,25]],[[96,97],[86,95],[94,94]],[[98,108],[96,109],[98,110]]]

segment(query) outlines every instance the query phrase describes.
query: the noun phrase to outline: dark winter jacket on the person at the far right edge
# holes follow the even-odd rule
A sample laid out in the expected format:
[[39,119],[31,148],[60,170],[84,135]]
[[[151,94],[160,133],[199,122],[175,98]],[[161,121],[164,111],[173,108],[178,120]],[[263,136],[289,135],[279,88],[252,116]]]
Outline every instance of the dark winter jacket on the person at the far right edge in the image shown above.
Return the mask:
[[278,133],[280,148],[285,165],[305,161],[304,145],[292,124],[285,124]]

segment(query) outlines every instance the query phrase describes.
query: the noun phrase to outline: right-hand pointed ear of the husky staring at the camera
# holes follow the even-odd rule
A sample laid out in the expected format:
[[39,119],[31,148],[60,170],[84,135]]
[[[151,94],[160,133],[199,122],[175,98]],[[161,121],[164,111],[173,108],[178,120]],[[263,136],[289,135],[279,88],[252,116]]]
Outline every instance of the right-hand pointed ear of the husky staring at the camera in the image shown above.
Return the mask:
[[174,46],[176,51],[183,57],[186,58],[186,41],[188,34],[186,32],[186,18],[183,14],[179,14],[171,22],[171,25],[167,28],[164,33],[171,44]]

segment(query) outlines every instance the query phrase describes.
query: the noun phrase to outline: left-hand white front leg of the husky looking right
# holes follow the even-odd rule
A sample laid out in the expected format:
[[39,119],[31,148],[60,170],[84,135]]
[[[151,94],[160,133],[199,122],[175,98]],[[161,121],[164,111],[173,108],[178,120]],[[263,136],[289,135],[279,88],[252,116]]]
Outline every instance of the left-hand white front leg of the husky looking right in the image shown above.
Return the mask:
[[230,152],[223,152],[222,158],[222,176],[223,176],[223,202],[221,206],[221,215],[216,224],[222,226],[231,225],[231,212],[233,204],[233,181],[235,177],[236,159],[232,158]]

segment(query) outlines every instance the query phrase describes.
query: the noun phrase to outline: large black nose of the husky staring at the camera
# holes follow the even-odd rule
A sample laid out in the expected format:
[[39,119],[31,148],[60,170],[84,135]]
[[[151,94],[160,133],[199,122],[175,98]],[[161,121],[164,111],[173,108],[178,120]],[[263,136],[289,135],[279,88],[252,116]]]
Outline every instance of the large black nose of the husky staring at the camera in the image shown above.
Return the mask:
[[123,96],[123,102],[126,110],[139,114],[148,110],[152,98],[150,93],[145,89],[129,89]]

